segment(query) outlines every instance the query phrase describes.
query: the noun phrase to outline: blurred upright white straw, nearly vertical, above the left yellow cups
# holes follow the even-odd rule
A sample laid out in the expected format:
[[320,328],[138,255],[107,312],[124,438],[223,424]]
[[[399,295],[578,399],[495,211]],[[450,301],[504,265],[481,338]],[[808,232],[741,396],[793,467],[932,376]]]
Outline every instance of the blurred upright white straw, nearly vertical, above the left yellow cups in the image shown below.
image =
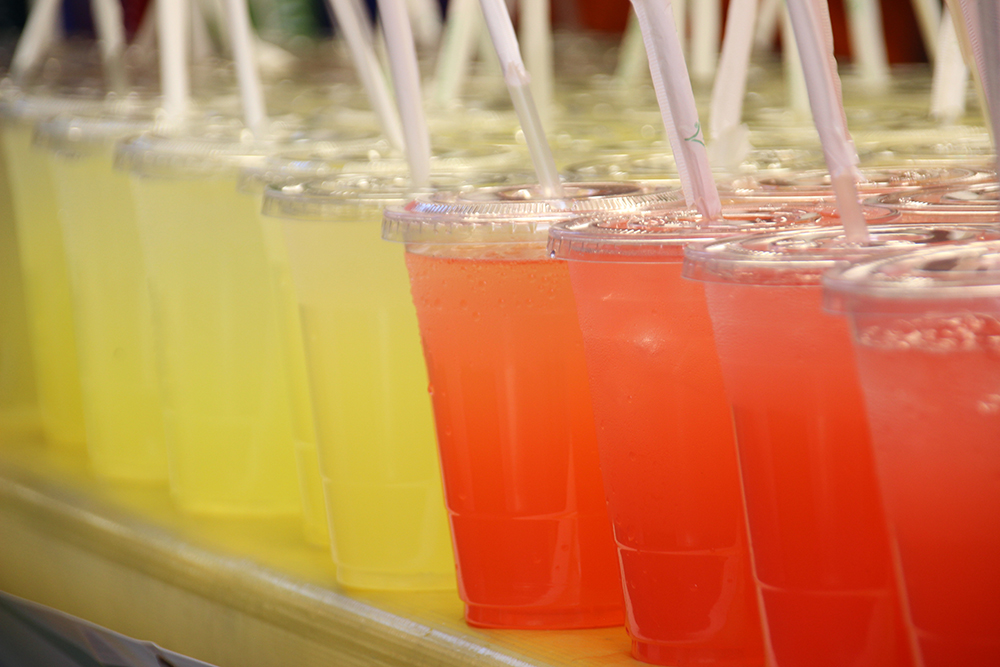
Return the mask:
[[157,0],[157,41],[160,45],[160,86],[163,111],[170,123],[180,122],[191,97],[187,62],[188,0]]

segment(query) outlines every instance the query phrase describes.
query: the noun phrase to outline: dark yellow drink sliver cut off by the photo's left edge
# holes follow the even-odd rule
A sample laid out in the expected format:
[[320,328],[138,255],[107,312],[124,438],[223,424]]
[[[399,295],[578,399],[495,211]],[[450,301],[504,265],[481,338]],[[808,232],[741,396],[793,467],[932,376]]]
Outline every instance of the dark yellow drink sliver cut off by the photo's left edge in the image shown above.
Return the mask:
[[41,428],[29,341],[14,205],[0,154],[0,441]]

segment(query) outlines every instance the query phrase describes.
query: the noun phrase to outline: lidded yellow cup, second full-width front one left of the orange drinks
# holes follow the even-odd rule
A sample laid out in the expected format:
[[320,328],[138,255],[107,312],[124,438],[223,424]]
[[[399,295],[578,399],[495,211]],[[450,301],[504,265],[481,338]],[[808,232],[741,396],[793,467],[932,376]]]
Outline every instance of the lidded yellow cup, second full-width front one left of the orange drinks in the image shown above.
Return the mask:
[[282,309],[239,168],[274,142],[238,126],[119,146],[146,259],[170,491],[184,511],[302,511]]

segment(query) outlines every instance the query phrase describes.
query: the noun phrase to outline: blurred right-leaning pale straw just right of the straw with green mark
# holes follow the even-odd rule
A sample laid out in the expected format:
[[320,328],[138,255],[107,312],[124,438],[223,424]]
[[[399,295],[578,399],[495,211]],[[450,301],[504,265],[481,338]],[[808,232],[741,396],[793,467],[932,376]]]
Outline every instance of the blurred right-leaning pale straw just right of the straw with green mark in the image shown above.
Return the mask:
[[757,0],[731,0],[719,69],[712,86],[708,128],[710,152],[722,164],[734,166],[750,151],[749,130],[740,122],[746,96],[747,69],[753,50]]

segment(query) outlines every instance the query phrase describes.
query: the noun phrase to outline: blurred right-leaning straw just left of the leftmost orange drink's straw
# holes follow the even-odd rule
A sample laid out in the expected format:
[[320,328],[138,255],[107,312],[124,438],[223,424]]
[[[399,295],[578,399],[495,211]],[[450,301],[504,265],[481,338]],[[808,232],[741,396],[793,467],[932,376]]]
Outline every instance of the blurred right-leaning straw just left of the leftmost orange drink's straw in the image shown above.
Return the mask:
[[444,37],[434,70],[434,105],[447,107],[465,83],[476,41],[483,29],[483,13],[476,0],[451,0]]

